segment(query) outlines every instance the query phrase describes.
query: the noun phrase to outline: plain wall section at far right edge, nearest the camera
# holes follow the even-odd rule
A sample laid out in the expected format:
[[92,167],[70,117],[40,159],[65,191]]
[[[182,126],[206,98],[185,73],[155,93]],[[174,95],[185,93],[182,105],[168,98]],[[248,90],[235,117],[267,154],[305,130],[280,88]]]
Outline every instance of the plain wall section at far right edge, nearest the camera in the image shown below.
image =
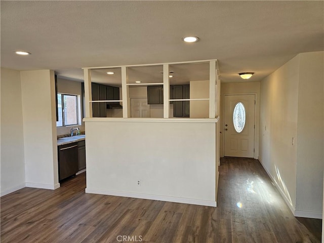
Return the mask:
[[320,214],[324,158],[324,52],[301,53],[299,58],[296,211]]

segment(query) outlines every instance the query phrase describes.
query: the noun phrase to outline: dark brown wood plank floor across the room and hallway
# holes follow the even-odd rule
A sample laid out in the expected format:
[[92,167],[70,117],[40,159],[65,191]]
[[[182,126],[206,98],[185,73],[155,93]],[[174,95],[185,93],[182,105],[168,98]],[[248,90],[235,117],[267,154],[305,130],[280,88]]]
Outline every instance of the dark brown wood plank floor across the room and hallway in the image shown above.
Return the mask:
[[258,160],[224,158],[219,169],[217,208],[86,194],[85,173],[54,191],[23,188],[1,197],[1,242],[320,242]]

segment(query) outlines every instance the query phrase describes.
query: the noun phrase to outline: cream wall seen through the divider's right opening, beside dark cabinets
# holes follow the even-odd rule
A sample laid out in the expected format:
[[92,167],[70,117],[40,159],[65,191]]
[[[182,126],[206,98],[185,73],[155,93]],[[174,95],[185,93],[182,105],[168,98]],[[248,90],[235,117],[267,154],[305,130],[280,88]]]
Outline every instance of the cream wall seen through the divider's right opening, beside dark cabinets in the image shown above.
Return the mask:
[[[190,81],[190,99],[208,99],[209,80]],[[190,101],[190,118],[209,118],[209,100]]]

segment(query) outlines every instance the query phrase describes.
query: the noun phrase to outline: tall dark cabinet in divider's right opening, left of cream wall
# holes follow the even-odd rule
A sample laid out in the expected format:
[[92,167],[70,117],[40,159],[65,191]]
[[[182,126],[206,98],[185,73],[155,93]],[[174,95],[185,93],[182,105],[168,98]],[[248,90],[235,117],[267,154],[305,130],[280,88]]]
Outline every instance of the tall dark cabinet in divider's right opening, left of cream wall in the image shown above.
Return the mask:
[[[190,99],[190,85],[173,85],[172,99]],[[174,117],[189,117],[190,101],[173,101]]]

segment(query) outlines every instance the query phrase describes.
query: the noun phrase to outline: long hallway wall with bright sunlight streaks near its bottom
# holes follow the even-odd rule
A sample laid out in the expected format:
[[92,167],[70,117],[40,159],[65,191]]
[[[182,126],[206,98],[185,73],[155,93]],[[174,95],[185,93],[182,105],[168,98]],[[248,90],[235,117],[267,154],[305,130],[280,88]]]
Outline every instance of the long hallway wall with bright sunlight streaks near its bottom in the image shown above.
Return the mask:
[[299,59],[293,58],[261,82],[259,160],[296,207]]

